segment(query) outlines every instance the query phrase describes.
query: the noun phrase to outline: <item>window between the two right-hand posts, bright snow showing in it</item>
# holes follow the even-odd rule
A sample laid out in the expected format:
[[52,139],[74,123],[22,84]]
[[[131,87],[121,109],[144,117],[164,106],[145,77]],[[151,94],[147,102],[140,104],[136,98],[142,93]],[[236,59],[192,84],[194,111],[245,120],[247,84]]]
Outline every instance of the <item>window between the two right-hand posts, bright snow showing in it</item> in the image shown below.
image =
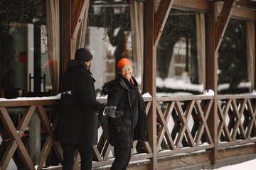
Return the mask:
[[171,8],[157,46],[158,96],[203,93],[205,41],[203,13]]

